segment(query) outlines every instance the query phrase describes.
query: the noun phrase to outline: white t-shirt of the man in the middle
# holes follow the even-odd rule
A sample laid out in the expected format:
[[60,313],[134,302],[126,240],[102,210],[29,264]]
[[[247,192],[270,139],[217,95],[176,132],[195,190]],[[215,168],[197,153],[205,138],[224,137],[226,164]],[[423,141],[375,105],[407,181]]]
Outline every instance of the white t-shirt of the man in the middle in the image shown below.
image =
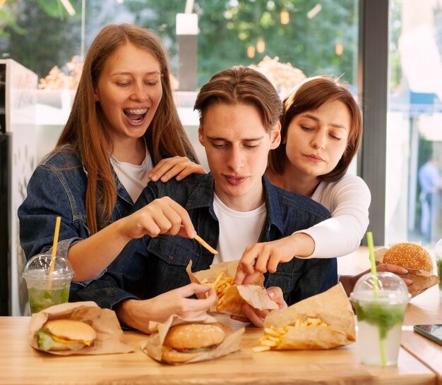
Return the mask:
[[230,209],[215,195],[213,210],[220,222],[218,252],[213,263],[235,261],[241,258],[246,246],[258,242],[265,222],[267,207],[265,203],[249,212]]

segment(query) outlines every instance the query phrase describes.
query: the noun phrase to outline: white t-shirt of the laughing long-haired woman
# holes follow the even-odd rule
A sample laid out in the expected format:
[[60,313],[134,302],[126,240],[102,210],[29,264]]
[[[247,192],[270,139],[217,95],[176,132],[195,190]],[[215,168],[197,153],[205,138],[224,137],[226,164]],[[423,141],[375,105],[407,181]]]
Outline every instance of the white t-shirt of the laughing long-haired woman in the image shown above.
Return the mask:
[[131,164],[125,161],[119,161],[115,157],[110,157],[112,167],[117,174],[119,181],[124,185],[127,192],[131,196],[133,202],[138,200],[138,197],[143,191],[143,188],[150,181],[149,173],[153,169],[152,159],[150,159],[150,154],[146,148],[146,156],[143,163],[138,166],[138,164]]

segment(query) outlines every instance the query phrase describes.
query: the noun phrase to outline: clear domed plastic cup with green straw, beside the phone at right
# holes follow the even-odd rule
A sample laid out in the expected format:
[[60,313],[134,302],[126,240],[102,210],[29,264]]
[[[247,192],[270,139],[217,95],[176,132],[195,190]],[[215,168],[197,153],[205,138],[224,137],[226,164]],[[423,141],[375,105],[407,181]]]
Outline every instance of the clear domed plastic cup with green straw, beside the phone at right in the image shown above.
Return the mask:
[[395,365],[405,308],[411,296],[396,274],[381,272],[377,277],[377,298],[371,273],[359,278],[350,294],[357,315],[357,341],[362,363]]

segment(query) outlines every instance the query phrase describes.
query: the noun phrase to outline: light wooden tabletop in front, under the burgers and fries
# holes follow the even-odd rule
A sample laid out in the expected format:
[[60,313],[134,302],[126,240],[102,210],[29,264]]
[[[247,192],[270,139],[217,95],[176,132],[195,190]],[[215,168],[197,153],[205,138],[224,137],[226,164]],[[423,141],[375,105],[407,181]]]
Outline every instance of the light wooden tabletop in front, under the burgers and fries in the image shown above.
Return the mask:
[[[29,317],[0,317],[0,384],[436,384],[436,374],[400,349],[397,366],[360,363],[356,343],[318,351],[252,353],[261,329],[247,327],[242,348],[217,360],[170,366],[145,355],[144,334],[125,332],[135,353],[56,356],[28,345]],[[222,317],[234,329],[242,326]]]

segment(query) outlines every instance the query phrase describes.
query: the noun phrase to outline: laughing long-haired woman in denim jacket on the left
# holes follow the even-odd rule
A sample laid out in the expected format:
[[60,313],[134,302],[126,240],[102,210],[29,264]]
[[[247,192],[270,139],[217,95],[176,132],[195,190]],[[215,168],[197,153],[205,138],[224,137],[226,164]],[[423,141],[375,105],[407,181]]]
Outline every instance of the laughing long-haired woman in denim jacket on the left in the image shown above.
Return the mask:
[[205,172],[196,161],[159,37],[136,25],[104,27],[85,57],[56,148],[37,166],[18,209],[26,256],[51,249],[56,216],[57,255],[68,257],[83,286],[132,238],[192,238],[188,214],[167,198],[127,214],[148,181]]

